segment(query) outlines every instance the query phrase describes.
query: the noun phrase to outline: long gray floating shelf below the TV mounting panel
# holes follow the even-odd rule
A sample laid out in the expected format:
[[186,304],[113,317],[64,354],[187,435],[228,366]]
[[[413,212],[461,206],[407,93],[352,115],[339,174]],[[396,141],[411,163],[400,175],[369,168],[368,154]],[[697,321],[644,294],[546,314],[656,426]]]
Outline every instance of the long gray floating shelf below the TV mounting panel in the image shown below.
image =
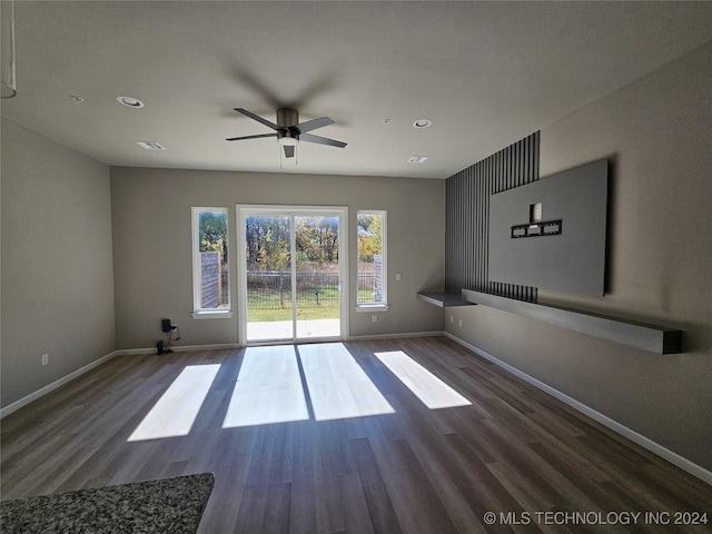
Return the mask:
[[463,298],[655,354],[682,353],[682,330],[463,289]]

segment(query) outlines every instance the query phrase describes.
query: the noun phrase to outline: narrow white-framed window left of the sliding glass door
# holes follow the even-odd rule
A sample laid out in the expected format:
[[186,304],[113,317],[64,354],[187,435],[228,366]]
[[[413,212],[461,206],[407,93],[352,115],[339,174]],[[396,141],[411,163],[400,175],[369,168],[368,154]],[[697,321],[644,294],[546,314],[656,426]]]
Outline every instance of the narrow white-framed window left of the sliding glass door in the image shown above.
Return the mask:
[[226,208],[192,208],[195,318],[231,315],[227,228]]

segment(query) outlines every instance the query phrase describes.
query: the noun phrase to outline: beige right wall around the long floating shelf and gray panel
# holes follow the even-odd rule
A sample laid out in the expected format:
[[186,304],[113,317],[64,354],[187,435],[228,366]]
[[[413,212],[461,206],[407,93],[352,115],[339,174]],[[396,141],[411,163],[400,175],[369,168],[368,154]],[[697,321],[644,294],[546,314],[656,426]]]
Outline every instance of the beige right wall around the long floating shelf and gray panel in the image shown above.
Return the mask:
[[[540,300],[684,330],[657,356],[482,306],[448,332],[712,469],[712,44],[541,134],[541,176],[613,161],[609,290]],[[463,327],[449,316],[463,319]]]

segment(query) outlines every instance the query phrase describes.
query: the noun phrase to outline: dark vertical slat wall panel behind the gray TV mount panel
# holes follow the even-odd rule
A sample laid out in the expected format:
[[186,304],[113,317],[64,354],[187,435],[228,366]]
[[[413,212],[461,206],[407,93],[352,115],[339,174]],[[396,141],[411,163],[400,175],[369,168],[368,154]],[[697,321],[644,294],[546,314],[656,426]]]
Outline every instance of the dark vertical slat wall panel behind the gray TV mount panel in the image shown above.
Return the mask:
[[451,176],[446,184],[445,289],[493,293],[536,301],[536,288],[491,283],[487,273],[490,196],[538,180],[538,132]]

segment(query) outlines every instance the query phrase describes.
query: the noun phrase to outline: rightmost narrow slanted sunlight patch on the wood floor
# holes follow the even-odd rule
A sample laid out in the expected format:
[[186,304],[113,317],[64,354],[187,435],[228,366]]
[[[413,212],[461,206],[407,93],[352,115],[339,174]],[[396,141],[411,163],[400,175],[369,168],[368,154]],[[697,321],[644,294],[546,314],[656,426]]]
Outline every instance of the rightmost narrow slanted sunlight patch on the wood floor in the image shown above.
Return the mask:
[[452,408],[472,404],[403,350],[374,354],[428,408]]

